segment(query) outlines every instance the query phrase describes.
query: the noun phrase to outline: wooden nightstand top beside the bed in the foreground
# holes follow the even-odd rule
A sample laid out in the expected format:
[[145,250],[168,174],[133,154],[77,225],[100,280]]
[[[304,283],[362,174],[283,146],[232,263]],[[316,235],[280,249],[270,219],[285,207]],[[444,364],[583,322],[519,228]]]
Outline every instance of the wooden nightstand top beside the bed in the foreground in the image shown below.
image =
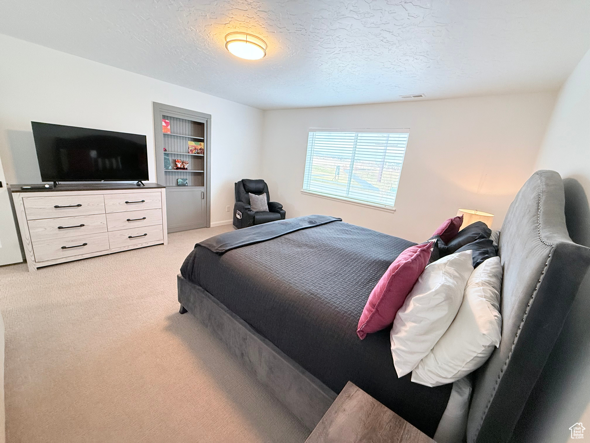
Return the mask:
[[348,382],[306,443],[434,443],[434,440]]

